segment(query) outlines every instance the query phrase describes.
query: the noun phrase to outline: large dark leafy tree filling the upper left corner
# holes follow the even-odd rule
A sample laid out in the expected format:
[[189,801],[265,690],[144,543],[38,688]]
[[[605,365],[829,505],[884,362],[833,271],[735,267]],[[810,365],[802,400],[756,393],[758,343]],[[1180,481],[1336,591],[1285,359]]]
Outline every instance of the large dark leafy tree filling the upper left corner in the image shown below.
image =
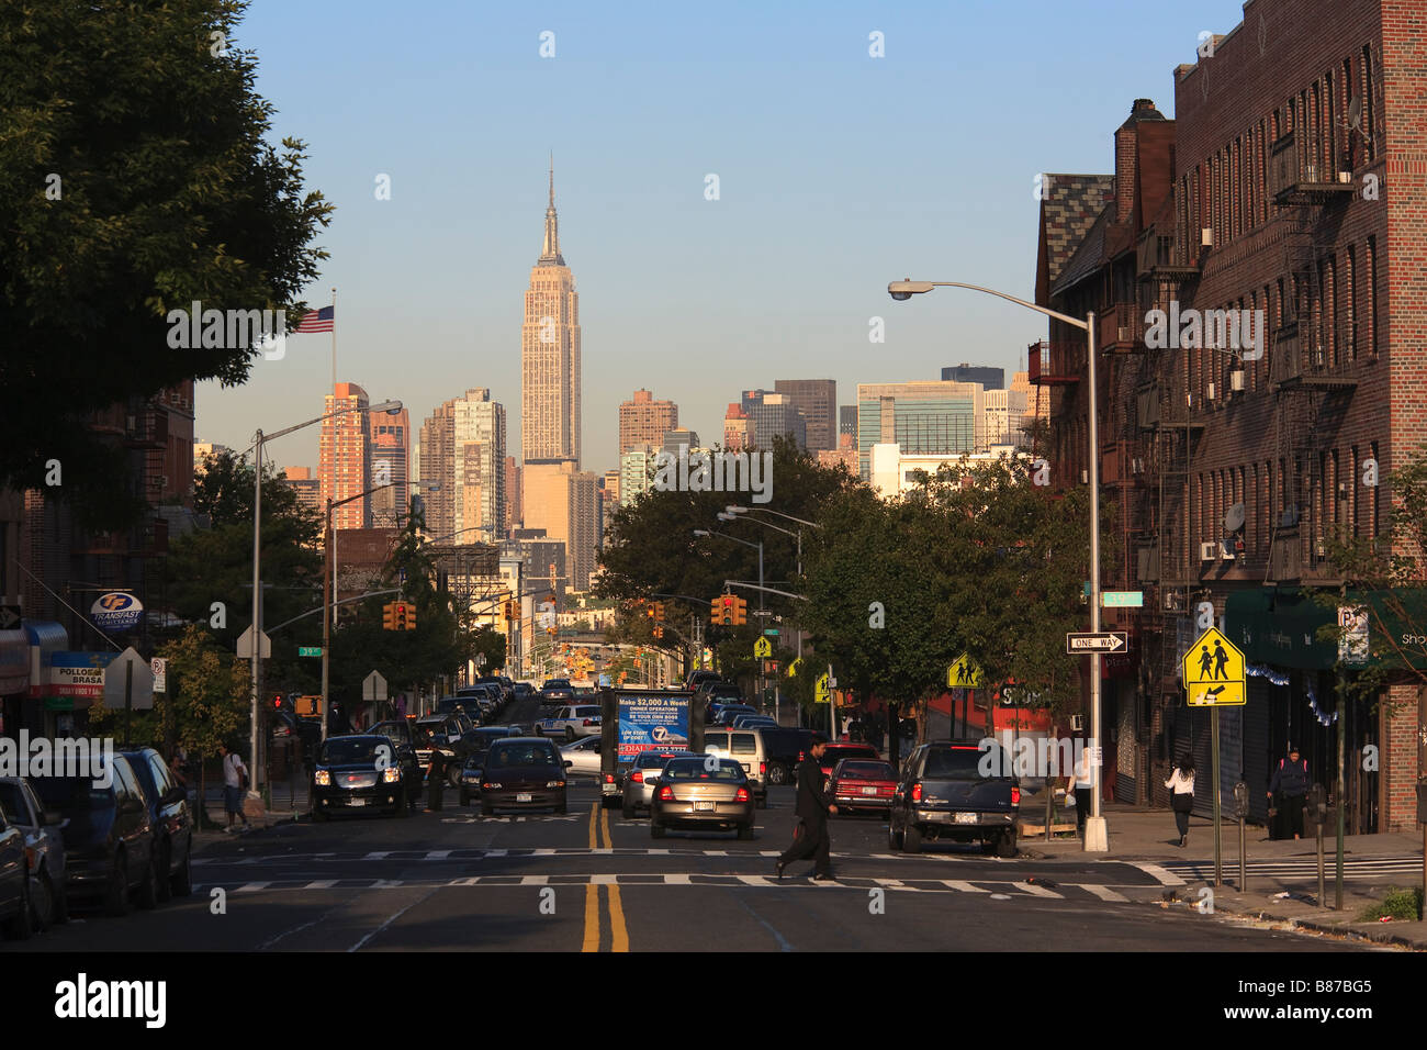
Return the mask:
[[[11,427],[0,484],[44,487],[96,524],[141,506],[123,450],[88,419],[184,380],[243,383],[257,333],[170,346],[171,310],[288,311],[325,253],[331,206],[304,191],[303,143],[233,40],[247,4],[0,6],[0,357]],[[228,340],[224,340],[225,343]],[[133,411],[133,409],[130,409]]]

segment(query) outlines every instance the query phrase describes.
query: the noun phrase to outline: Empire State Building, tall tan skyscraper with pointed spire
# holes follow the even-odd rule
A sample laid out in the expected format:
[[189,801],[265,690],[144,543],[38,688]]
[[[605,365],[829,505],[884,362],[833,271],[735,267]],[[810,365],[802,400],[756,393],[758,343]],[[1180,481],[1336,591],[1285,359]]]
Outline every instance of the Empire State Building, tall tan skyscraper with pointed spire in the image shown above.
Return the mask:
[[579,469],[579,296],[559,254],[555,166],[549,169],[545,244],[531,267],[521,331],[521,456],[574,460]]

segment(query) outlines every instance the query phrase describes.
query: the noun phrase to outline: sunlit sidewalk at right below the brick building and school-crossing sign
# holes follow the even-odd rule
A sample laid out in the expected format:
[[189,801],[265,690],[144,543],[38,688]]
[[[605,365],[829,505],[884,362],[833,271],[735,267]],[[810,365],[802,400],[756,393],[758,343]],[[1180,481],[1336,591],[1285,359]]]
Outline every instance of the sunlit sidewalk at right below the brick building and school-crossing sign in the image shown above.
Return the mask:
[[[1040,796],[1030,796],[1022,803],[1022,814],[1033,823],[1040,823],[1045,813],[1045,801]],[[1194,816],[1189,821],[1189,846],[1179,847],[1179,834],[1174,829],[1174,814],[1163,809],[1139,809],[1120,803],[1102,803],[1102,810],[1109,829],[1107,853],[1085,853],[1077,837],[1062,836],[1052,841],[1043,837],[1022,837],[1020,853],[1025,857],[1046,859],[1057,861],[1122,861],[1146,869],[1159,867],[1152,871],[1156,877],[1182,877],[1183,886],[1162,887],[1159,890],[1162,901],[1167,906],[1179,904],[1197,907],[1200,889],[1213,887],[1214,864],[1214,836],[1209,820]],[[1063,816],[1057,813],[1057,820]],[[1075,810],[1070,810],[1070,820],[1075,820]],[[1310,826],[1311,830],[1311,826]],[[1267,829],[1249,824],[1246,830],[1246,854],[1249,863],[1249,891],[1239,891],[1239,823],[1224,821],[1222,826],[1220,866],[1223,884],[1213,887],[1213,907],[1216,911],[1249,916],[1254,919],[1289,923],[1309,930],[1319,930],[1331,934],[1356,934],[1384,944],[1398,944],[1416,950],[1427,950],[1427,923],[1400,921],[1390,923],[1371,921],[1360,923],[1357,917],[1370,906],[1381,901],[1383,896],[1394,887],[1420,887],[1421,876],[1421,834],[1407,831],[1391,831],[1383,834],[1359,834],[1343,839],[1344,861],[1374,860],[1388,857],[1416,857],[1417,864],[1411,871],[1393,871],[1373,877],[1350,879],[1351,867],[1344,867],[1343,879],[1343,910],[1333,909],[1334,901],[1334,869],[1337,839],[1336,829],[1323,829],[1323,861],[1324,861],[1324,899],[1327,907],[1319,907],[1317,901],[1317,839],[1307,836],[1301,840],[1270,841]],[[1183,871],[1183,866],[1196,863],[1203,874]],[[1263,861],[1281,861],[1287,864],[1303,864],[1306,870],[1284,873],[1256,873],[1254,864]],[[1166,871],[1162,864],[1173,864],[1174,871]],[[1291,896],[1280,896],[1291,894]]]

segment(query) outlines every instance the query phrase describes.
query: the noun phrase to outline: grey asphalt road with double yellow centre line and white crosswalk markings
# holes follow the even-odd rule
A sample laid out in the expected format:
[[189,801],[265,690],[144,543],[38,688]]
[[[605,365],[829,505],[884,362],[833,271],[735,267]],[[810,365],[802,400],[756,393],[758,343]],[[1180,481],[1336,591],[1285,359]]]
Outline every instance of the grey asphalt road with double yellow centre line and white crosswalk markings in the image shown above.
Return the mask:
[[[527,711],[517,711],[527,716]],[[3,950],[1360,950],[1163,907],[1154,874],[1117,861],[892,853],[886,823],[836,819],[836,880],[811,861],[773,879],[793,789],[772,789],[752,841],[671,831],[604,810],[571,781],[569,813],[352,814],[224,839],[194,860],[194,896],[127,919],[76,920]],[[221,907],[220,907],[221,904]]]

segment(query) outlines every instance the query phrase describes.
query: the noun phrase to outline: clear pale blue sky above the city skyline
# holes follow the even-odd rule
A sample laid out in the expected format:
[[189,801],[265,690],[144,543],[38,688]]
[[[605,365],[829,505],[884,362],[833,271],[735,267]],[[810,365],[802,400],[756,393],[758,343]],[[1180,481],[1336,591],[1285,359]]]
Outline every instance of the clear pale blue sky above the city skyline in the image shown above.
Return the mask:
[[[337,206],[305,297],[338,289],[338,379],[401,399],[414,429],[485,386],[518,454],[522,294],[554,150],[584,467],[602,471],[638,387],[718,440],[739,390],[776,379],[836,379],[850,404],[859,381],[1022,367],[1036,314],[955,290],[893,303],[886,283],[1032,297],[1036,173],[1113,170],[1132,101],[1173,116],[1174,66],[1241,17],[1237,0],[255,0],[235,43],[258,54],[274,139],[305,140],[308,184]],[[245,386],[200,386],[197,436],[241,449],[318,416],[330,383],[330,337],[293,336]],[[271,451],[315,467],[317,441],[311,427]]]

